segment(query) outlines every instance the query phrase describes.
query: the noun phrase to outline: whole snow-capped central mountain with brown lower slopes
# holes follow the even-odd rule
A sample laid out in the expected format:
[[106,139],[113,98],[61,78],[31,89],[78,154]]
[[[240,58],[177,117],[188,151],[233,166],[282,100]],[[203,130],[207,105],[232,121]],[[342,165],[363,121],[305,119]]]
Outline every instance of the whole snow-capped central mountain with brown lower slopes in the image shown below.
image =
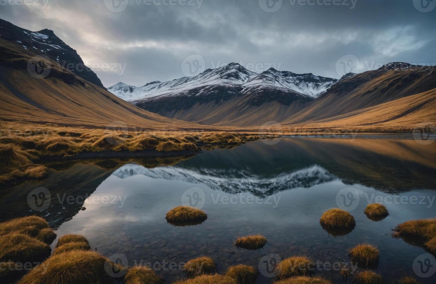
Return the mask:
[[[114,95],[170,118],[202,124],[252,125],[284,119],[324,93],[337,79],[270,68],[261,74],[237,63],[207,69],[193,77],[155,81],[142,87],[122,82],[108,88]],[[259,117],[272,105],[277,117]],[[260,119],[260,120],[259,120]]]

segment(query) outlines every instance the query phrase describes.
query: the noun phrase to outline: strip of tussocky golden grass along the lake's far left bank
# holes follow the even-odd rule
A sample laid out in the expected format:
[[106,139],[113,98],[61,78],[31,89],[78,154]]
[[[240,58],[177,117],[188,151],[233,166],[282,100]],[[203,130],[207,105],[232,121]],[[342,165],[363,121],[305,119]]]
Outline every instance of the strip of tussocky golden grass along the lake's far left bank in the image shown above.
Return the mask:
[[259,135],[230,132],[125,131],[0,122],[0,183],[48,176],[41,158],[82,152],[156,151],[197,153],[200,147],[240,145]]

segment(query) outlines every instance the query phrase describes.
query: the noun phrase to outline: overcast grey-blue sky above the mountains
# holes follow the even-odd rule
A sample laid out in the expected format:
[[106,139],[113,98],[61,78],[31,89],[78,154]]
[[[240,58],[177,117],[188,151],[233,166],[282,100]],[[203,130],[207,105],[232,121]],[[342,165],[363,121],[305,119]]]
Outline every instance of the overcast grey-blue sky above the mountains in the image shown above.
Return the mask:
[[[106,87],[168,81],[230,62],[331,78],[392,61],[436,64],[436,1],[24,1],[33,5],[0,0],[0,18],[54,30]],[[98,70],[102,63],[115,71]]]

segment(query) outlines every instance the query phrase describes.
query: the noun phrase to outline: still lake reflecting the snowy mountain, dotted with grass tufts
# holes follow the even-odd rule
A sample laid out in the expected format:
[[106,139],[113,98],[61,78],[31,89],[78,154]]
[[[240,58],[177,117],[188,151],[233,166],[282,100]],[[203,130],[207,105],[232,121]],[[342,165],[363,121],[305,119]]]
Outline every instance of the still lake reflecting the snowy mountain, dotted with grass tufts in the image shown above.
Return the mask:
[[[380,250],[375,271],[386,282],[409,274],[434,283],[436,274],[418,277],[413,266],[426,251],[391,234],[399,223],[436,217],[435,145],[386,137],[282,138],[192,157],[51,162],[48,179],[1,191],[0,218],[43,216],[58,236],[83,234],[103,255],[151,265],[167,283],[183,278],[181,265],[202,255],[215,260],[219,273],[249,264],[260,271],[257,283],[271,283],[273,264],[301,254],[319,264],[315,274],[351,283],[342,282],[337,264],[350,265],[347,250],[366,242]],[[41,191],[48,202],[35,207],[28,196]],[[390,215],[369,220],[363,212],[375,202]],[[204,210],[208,219],[167,223],[165,214],[182,204]],[[357,223],[341,236],[319,223],[337,207]],[[233,245],[251,234],[268,242],[259,250]]]

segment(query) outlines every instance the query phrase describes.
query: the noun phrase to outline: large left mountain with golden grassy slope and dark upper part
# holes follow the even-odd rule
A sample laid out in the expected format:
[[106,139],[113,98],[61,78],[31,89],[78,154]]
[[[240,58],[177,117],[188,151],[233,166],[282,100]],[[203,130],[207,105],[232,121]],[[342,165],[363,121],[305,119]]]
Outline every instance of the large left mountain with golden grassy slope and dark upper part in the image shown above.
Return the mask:
[[[123,101],[87,81],[83,76],[85,73],[75,74],[67,70],[59,64],[61,60],[58,61],[53,56],[42,57],[53,50],[46,52],[31,47],[29,42],[36,43],[36,39],[27,39],[24,33],[22,37],[27,41],[22,38],[11,39],[11,26],[3,29],[4,24],[5,21],[0,24],[0,120],[103,128],[112,122],[144,129],[204,128],[150,113]],[[5,31],[9,34],[9,40],[5,39]],[[14,32],[17,31],[19,29]],[[45,31],[44,34],[48,32]],[[38,36],[47,44],[49,41],[52,45],[58,43],[51,41],[52,37],[45,39]],[[66,48],[65,45],[59,47]],[[34,60],[35,57],[37,61]],[[32,74],[29,69],[29,65],[34,67],[32,63],[40,68],[44,76]]]

